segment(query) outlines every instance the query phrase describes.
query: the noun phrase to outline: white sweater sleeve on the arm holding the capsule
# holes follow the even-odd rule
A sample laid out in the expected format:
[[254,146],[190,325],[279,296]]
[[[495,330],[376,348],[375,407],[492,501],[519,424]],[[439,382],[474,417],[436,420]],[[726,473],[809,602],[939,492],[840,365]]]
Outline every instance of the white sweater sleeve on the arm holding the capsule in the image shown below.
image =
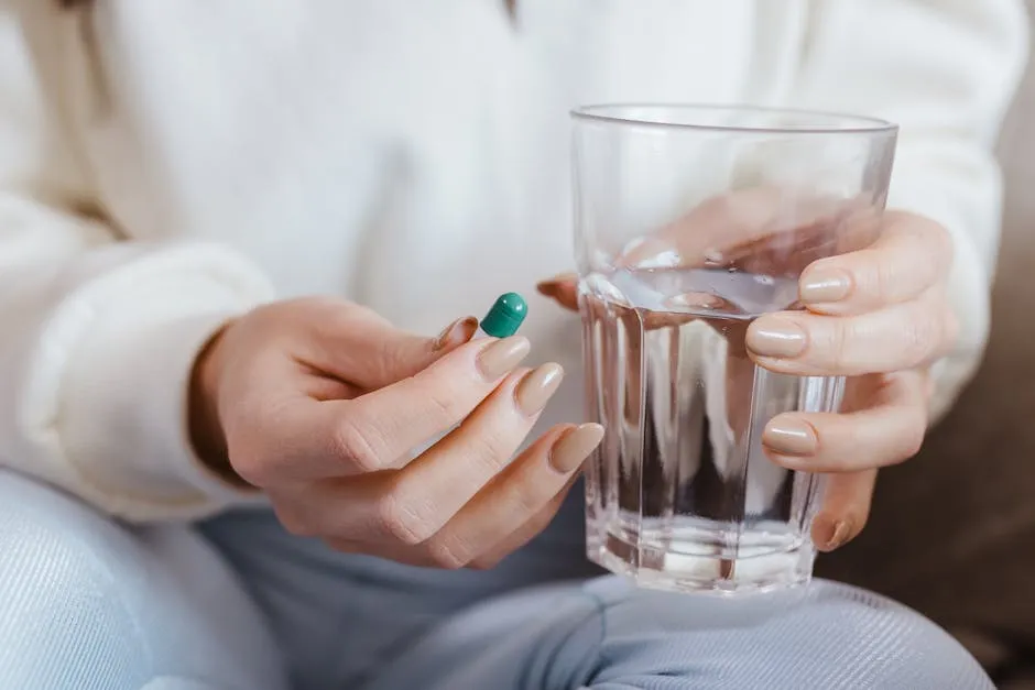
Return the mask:
[[211,333],[271,287],[226,248],[84,212],[101,205],[30,40],[57,4],[0,0],[0,463],[130,521],[257,501],[194,456],[186,393]]

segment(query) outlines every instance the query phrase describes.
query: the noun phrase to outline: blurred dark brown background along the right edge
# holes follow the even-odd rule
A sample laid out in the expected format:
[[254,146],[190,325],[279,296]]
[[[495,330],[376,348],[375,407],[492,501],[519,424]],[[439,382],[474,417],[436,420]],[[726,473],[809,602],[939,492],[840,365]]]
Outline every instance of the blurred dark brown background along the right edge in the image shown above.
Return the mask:
[[[1035,15],[1035,0],[1028,7]],[[863,536],[820,559],[818,571],[923,611],[963,640],[1001,688],[1020,690],[1035,689],[1033,65],[1000,156],[1005,227],[984,364],[920,457],[882,474]]]

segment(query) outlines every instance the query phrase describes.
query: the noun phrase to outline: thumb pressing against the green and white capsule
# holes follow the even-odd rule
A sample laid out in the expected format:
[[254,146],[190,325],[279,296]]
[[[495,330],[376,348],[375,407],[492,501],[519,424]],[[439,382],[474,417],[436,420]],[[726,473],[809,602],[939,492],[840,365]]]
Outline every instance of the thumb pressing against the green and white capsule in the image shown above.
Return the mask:
[[366,390],[382,388],[427,369],[439,358],[467,343],[478,330],[472,316],[449,324],[438,336],[426,338],[399,330],[388,324],[372,343],[374,357],[358,372],[356,381]]

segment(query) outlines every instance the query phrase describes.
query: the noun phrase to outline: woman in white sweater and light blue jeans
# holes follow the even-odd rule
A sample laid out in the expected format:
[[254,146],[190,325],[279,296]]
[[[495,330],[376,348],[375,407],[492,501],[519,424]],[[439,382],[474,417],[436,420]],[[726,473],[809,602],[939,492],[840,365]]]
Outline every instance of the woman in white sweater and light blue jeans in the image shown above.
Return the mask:
[[454,319],[568,267],[574,105],[900,122],[883,239],[803,275],[834,318],[749,336],[860,376],[766,432],[837,473],[840,546],[980,355],[1018,2],[64,4],[0,1],[0,687],[991,687],[829,583],[753,626],[562,583],[593,574],[564,496],[601,435],[575,317]]

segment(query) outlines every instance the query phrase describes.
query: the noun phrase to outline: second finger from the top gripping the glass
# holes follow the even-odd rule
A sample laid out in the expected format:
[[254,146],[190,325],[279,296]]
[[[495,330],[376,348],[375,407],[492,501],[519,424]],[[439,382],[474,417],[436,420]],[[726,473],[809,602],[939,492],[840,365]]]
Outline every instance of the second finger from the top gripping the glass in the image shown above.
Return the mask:
[[930,291],[859,316],[766,315],[748,329],[747,346],[758,364],[776,373],[856,376],[930,363],[952,346],[955,324],[945,296]]

